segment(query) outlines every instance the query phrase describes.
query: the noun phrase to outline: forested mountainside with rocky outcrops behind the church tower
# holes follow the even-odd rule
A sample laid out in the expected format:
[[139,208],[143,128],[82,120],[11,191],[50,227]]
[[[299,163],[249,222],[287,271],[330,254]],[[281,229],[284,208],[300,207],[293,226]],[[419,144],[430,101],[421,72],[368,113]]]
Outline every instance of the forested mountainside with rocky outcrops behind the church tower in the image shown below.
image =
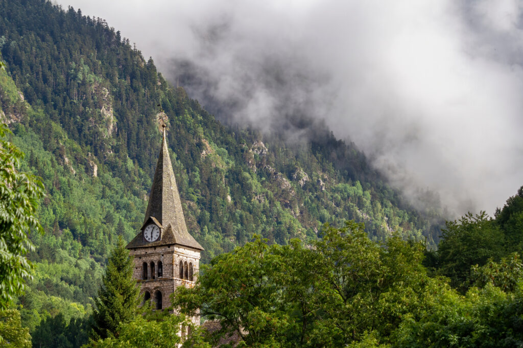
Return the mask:
[[20,300],[31,333],[46,316],[83,317],[117,235],[130,241],[138,232],[160,110],[204,262],[253,233],[286,244],[348,219],[365,222],[374,240],[397,231],[437,242],[441,213],[408,206],[354,144],[324,127],[305,144],[225,127],[104,20],[47,1],[0,0],[0,52],[0,117],[26,153],[24,169],[47,190],[46,234],[31,236],[37,274]]

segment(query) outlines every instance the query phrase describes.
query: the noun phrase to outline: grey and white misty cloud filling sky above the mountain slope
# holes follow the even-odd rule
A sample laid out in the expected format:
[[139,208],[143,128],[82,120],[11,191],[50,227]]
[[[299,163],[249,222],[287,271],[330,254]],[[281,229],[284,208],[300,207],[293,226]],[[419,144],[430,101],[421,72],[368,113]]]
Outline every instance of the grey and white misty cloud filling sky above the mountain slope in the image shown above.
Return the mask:
[[521,1],[59,3],[106,19],[221,117],[324,119],[410,197],[493,214],[523,185]]

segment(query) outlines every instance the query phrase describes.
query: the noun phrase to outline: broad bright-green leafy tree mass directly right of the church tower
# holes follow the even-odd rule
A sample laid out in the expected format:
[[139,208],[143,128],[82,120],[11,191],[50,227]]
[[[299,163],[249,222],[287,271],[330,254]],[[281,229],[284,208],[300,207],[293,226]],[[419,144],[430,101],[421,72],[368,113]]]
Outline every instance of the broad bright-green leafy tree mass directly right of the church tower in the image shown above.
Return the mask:
[[305,247],[254,241],[204,266],[173,305],[187,315],[219,319],[210,343],[236,332],[248,346],[344,346],[381,341],[402,316],[417,313],[428,277],[423,247],[392,237],[370,241],[362,224],[326,225]]

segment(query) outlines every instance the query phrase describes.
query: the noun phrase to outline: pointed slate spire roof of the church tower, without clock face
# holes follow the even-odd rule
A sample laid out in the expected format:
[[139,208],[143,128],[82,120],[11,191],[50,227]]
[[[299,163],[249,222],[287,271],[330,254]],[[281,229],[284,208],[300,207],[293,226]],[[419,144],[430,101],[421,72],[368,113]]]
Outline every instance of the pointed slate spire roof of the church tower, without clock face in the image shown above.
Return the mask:
[[[143,226],[149,222],[149,220],[159,223],[160,226],[163,227],[164,231],[160,241],[153,243],[144,242],[142,236]],[[176,186],[176,179],[174,177],[173,165],[170,162],[169,151],[167,149],[164,127],[162,148],[160,149],[160,155],[158,155],[158,163],[156,164],[153,186],[145,212],[142,231],[134,237],[127,245],[127,248],[167,244],[179,244],[181,246],[203,250],[195,238],[187,232],[184,212],[181,209],[180,195],[178,194],[178,187]]]

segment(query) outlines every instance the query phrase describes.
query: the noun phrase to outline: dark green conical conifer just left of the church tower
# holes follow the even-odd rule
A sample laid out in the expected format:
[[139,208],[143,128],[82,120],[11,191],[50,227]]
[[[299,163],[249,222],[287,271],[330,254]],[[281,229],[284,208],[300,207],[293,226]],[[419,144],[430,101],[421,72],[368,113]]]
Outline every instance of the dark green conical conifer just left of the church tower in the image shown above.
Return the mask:
[[134,263],[120,236],[112,250],[103,277],[103,284],[95,298],[94,338],[118,337],[118,325],[135,318],[140,303],[140,290],[132,277]]

